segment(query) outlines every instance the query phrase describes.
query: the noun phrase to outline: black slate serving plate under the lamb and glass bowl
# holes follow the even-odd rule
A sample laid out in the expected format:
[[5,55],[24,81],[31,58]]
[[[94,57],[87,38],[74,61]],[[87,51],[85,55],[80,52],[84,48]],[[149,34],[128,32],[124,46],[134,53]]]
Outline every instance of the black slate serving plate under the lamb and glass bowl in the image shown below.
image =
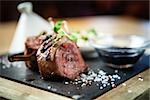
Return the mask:
[[[119,85],[136,74],[149,68],[149,55],[144,55],[133,68],[117,69],[120,80],[115,82]],[[107,67],[100,58],[86,60],[86,63],[93,70],[102,69],[107,74],[114,74],[116,69]],[[7,55],[0,56],[0,77],[17,81],[29,86],[40,88],[49,92],[57,93],[67,97],[79,97],[78,99],[93,99],[112,89],[112,86],[107,86],[100,90],[96,82],[91,86],[81,87],[79,84],[64,84],[66,79],[52,78],[51,80],[42,80],[38,72],[33,72],[25,67],[24,62],[15,62],[11,64],[7,61]],[[68,81],[68,80],[67,80]]]

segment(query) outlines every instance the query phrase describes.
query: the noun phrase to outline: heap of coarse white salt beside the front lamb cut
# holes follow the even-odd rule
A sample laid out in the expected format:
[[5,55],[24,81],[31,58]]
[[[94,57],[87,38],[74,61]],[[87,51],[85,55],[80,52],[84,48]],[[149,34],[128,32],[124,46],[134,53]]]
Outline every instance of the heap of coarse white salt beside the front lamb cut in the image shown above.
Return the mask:
[[[118,72],[115,71],[115,72]],[[90,69],[87,74],[81,74],[79,79],[75,79],[75,81],[65,82],[65,84],[80,84],[81,87],[84,86],[90,86],[94,82],[98,82],[96,86],[99,86],[99,89],[103,89],[107,87],[108,85],[111,85],[112,87],[116,87],[115,81],[120,80],[121,77],[118,74],[107,74],[103,70],[97,70],[93,71]]]

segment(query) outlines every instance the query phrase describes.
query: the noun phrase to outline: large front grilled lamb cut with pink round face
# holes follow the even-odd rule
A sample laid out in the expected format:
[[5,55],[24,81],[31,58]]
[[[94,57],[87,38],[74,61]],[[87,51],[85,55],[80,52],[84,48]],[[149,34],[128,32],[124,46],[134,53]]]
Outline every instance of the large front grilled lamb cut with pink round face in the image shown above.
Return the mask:
[[69,79],[75,79],[87,69],[77,45],[63,36],[56,36],[43,42],[37,51],[37,62],[40,74],[43,78],[51,75],[59,75]]

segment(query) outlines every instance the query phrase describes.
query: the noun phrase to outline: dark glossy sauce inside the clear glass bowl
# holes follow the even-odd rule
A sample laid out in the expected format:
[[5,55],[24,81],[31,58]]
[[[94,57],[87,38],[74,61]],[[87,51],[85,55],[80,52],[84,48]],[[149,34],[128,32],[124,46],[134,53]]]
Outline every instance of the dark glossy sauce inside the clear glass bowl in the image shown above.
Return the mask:
[[116,66],[135,64],[145,51],[144,49],[121,47],[95,49],[104,62]]

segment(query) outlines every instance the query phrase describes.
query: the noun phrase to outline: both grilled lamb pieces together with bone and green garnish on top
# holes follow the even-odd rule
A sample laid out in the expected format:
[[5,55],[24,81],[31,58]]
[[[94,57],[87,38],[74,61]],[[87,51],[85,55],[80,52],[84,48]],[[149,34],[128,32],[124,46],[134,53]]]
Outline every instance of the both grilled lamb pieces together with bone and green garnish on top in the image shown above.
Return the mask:
[[78,78],[87,66],[65,26],[64,21],[59,21],[53,27],[55,33],[27,38],[24,55],[14,55],[9,60],[25,61],[29,69],[39,69],[45,79],[52,75]]

